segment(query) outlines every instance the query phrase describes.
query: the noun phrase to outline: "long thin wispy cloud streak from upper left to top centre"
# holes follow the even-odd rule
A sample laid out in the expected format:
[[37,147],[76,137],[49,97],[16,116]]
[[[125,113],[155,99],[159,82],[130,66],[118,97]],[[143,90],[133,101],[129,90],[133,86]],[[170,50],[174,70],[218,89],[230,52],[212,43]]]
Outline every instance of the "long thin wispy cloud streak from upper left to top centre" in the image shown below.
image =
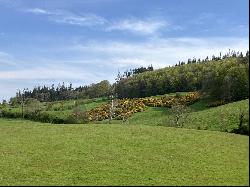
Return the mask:
[[124,18],[120,20],[107,20],[96,14],[82,13],[74,14],[63,10],[46,10],[41,8],[26,9],[25,12],[47,16],[49,20],[59,24],[77,26],[102,25],[103,29],[109,31],[128,31],[134,34],[154,34],[162,28],[169,26],[163,19],[157,18]]

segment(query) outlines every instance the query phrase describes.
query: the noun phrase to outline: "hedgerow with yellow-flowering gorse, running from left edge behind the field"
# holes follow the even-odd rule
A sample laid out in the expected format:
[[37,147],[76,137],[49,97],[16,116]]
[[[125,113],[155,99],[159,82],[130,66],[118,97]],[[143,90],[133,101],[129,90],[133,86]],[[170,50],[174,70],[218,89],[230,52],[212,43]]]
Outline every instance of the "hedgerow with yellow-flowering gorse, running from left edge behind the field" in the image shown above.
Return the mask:
[[[190,105],[200,98],[198,92],[190,92],[185,96],[164,96],[161,98],[134,98],[134,99],[117,99],[114,102],[114,107],[111,111],[111,104],[103,104],[89,111],[73,110],[71,114],[58,116],[48,111],[28,111],[24,113],[24,118],[40,121],[44,123],[55,124],[75,124],[88,123],[89,121],[102,121],[112,118],[117,120],[124,120],[132,114],[144,111],[147,106],[151,107],[171,107],[175,104]],[[13,111],[11,109],[4,109],[1,112],[2,117],[7,118],[22,118],[20,111]]]

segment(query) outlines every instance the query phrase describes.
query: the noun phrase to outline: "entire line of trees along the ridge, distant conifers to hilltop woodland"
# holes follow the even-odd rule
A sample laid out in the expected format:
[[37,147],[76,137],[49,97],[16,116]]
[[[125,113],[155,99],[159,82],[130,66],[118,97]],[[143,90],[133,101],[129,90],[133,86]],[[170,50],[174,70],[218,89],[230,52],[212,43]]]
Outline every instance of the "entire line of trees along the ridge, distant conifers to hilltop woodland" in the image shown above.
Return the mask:
[[211,59],[188,59],[178,64],[154,70],[153,66],[139,67],[118,72],[116,82],[99,83],[73,88],[70,83],[55,86],[37,86],[23,89],[10,99],[12,105],[24,99],[41,102],[107,97],[139,98],[173,92],[201,91],[204,97],[214,100],[236,101],[249,97],[249,51],[230,51]]

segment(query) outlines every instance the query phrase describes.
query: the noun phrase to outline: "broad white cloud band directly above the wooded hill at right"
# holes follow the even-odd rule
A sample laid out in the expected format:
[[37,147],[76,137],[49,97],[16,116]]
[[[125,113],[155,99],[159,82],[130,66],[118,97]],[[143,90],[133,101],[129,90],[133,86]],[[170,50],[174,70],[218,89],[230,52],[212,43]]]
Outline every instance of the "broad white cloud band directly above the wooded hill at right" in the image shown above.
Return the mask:
[[187,61],[188,58],[206,58],[226,53],[228,50],[246,51],[248,39],[244,38],[153,38],[145,42],[96,42],[78,44],[70,50],[89,54],[89,60],[99,60],[107,66],[166,67]]

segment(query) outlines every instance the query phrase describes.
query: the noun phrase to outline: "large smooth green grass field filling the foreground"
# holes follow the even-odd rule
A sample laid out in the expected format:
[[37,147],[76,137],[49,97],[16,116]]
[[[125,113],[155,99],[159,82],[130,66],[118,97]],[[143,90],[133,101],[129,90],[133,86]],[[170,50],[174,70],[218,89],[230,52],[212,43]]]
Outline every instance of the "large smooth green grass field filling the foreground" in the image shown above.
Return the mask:
[[0,119],[0,185],[248,185],[249,137]]

